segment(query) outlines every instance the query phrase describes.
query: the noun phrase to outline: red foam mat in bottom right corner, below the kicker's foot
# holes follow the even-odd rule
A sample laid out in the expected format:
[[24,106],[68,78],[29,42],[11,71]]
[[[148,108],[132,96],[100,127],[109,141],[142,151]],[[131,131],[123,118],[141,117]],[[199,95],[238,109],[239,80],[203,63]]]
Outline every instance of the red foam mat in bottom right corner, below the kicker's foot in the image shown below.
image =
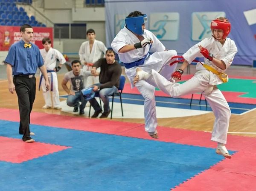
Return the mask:
[[173,191],[255,191],[256,177],[224,171],[207,171],[180,184]]

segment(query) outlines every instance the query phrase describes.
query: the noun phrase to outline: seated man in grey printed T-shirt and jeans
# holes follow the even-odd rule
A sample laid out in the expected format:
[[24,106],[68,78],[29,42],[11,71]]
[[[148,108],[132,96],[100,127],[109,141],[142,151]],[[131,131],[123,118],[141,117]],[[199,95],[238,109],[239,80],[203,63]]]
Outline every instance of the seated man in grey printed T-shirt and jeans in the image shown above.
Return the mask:
[[[87,103],[87,100],[83,97],[81,90],[84,87],[84,84],[88,76],[92,76],[90,71],[81,69],[81,63],[79,60],[73,60],[71,63],[72,70],[67,72],[62,80],[61,86],[67,92],[67,105],[74,107],[73,112],[78,112],[79,114],[84,114],[84,108]],[[94,76],[99,76],[99,72],[94,72]],[[71,83],[71,90],[67,87],[67,82]],[[80,103],[81,102],[81,105]]]

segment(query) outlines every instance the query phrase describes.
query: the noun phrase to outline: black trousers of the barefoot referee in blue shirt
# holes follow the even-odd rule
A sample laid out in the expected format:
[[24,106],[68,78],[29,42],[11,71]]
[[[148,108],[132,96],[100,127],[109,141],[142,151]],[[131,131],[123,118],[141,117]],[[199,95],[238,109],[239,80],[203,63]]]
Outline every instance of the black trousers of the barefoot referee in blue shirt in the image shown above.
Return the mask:
[[28,75],[17,75],[13,77],[15,91],[18,96],[20,111],[20,128],[19,133],[23,134],[22,140],[30,140],[30,113],[35,101],[35,76],[29,78]]

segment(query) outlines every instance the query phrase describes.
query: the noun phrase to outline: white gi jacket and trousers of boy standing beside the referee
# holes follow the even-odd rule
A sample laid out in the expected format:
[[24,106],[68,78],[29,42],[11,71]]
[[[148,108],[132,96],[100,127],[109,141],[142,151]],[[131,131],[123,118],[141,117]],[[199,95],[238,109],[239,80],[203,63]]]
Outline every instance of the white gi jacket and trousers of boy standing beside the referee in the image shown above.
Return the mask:
[[[50,48],[48,52],[46,50],[40,49],[41,55],[44,58],[44,64],[47,68],[47,70],[53,70],[56,67],[56,62],[57,59],[59,60],[60,64],[66,63],[66,59],[64,56],[61,54],[60,51]],[[42,73],[40,72],[42,75]],[[58,91],[58,78],[56,72],[48,72],[47,76],[49,78],[49,84],[51,87],[51,82],[52,82],[52,99],[51,99],[51,91],[46,91],[46,86],[45,86],[45,80],[44,77],[42,78],[41,82],[41,87],[43,90],[43,96],[45,100],[45,105],[52,107],[52,102],[53,102],[53,107],[60,107],[60,98],[59,98],[59,91]]]

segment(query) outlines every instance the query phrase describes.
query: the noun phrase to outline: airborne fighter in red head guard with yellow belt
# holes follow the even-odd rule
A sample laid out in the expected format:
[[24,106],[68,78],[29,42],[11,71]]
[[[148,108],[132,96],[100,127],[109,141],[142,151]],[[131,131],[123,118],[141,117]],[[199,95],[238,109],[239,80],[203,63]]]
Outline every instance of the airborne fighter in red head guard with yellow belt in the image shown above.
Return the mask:
[[237,48],[235,42],[227,38],[231,25],[226,18],[220,17],[213,20],[211,29],[212,37],[205,38],[183,54],[184,62],[182,66],[172,74],[174,80],[180,80],[184,69],[192,60],[196,57],[205,57],[204,64],[197,63],[196,69],[198,71],[190,80],[183,84],[172,83],[154,70],[148,73],[143,71],[143,68],[137,68],[137,76],[134,79],[134,83],[145,80],[144,82],[160,88],[161,91],[172,97],[180,97],[198,92],[204,94],[215,115],[211,140],[218,143],[216,153],[226,158],[231,158],[225,146],[231,111],[225,97],[216,85],[228,81],[224,71],[233,62]]

